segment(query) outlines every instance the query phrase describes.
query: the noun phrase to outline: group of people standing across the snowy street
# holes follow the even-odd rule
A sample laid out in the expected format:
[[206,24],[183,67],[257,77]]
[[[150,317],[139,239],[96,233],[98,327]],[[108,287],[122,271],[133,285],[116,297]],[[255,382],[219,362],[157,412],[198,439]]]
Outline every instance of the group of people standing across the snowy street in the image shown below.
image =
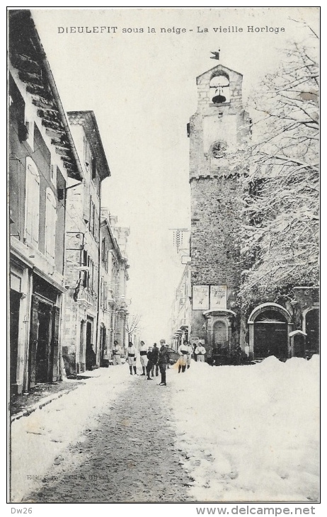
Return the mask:
[[[113,343],[113,365],[119,365],[121,363],[120,356],[122,349],[120,348],[118,341]],[[202,341],[193,343],[191,346],[190,341],[183,341],[183,344],[178,348],[180,358],[178,359],[178,373],[184,373],[186,368],[190,368],[190,361],[192,355],[194,355],[197,361],[205,360],[205,347]],[[154,373],[156,377],[161,374],[160,386],[166,386],[166,369],[169,368],[169,351],[168,345],[165,339],[160,340],[160,348],[154,343],[154,346],[147,346],[144,341],[140,342],[139,347],[139,360],[142,365],[142,374],[147,375],[147,380],[152,380]],[[128,343],[127,348],[127,364],[130,367],[130,375],[137,375],[137,349],[135,348],[132,341]]]

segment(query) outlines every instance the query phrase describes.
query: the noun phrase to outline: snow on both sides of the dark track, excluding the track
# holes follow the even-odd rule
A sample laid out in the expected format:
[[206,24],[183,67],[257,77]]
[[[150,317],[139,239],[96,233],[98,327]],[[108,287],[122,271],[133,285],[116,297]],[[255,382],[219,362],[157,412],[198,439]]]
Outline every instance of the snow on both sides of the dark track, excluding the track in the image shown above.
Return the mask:
[[[42,486],[52,465],[64,462],[67,446],[96,429],[131,382],[146,382],[129,375],[127,365],[94,375],[100,373],[13,422],[12,501]],[[170,368],[167,382],[147,386],[154,396],[166,393],[167,409],[173,406],[169,420],[195,501],[319,499],[319,356],[286,363],[270,357],[251,366],[192,361],[185,373]]]

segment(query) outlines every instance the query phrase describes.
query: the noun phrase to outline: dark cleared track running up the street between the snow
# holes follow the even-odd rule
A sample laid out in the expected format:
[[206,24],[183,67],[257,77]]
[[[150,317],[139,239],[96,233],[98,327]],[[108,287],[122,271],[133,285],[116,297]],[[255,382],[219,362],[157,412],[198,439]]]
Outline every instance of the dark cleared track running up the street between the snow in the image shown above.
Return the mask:
[[[56,460],[28,502],[182,502],[190,478],[171,425],[169,386],[134,376],[120,398],[98,414],[98,426]],[[69,424],[68,424],[69,425]]]

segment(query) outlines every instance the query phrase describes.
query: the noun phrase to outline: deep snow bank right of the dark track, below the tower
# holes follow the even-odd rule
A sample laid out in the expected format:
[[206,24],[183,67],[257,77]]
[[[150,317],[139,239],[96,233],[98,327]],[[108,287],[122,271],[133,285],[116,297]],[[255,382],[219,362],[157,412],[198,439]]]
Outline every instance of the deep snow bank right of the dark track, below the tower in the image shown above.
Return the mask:
[[319,499],[319,356],[168,372],[196,501]]

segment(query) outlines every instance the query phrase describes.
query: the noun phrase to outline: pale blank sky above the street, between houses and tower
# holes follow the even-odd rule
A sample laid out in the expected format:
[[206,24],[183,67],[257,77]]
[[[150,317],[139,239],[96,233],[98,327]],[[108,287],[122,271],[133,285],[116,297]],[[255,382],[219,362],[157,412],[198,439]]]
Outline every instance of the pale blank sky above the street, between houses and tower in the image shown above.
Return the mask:
[[[141,315],[141,339],[168,340],[185,254],[174,248],[171,228],[190,228],[186,125],[197,110],[196,77],[219,63],[240,72],[246,106],[289,42],[307,37],[294,20],[318,31],[319,8],[35,8],[32,14],[64,109],[96,115],[111,171],[102,205],[130,227],[129,311]],[[220,61],[210,59],[219,49]]]

